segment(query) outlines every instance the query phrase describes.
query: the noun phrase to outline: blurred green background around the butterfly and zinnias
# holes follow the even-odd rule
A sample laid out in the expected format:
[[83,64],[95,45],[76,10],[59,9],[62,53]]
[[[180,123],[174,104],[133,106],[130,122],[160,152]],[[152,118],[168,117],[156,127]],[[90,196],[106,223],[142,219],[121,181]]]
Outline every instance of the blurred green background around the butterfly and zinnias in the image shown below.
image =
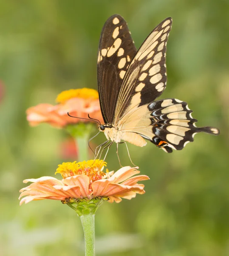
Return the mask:
[[[173,18],[163,98],[189,103],[198,134],[184,150],[166,154],[148,143],[129,146],[144,195],[104,203],[96,213],[97,256],[229,255],[229,1],[8,0],[0,2],[0,255],[84,255],[80,219],[58,201],[19,207],[25,178],[52,176],[69,139],[63,130],[31,128],[25,110],[54,104],[62,90],[96,88],[99,36],[110,15],[128,23],[138,48],[164,18]],[[94,146],[105,140],[103,134]],[[130,165],[120,145],[123,165]],[[119,169],[115,147],[108,169]]]

